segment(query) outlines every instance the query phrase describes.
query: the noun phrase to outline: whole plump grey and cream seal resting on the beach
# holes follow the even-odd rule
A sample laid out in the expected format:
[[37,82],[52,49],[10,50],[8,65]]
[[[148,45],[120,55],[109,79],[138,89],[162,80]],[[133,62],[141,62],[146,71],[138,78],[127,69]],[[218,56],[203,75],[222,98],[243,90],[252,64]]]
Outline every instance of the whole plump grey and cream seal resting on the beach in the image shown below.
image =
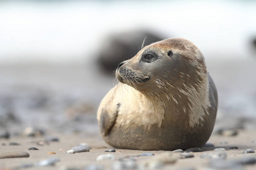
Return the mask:
[[119,83],[102,99],[100,132],[111,146],[135,150],[201,147],[212,134],[218,96],[203,54],[171,38],[121,62]]

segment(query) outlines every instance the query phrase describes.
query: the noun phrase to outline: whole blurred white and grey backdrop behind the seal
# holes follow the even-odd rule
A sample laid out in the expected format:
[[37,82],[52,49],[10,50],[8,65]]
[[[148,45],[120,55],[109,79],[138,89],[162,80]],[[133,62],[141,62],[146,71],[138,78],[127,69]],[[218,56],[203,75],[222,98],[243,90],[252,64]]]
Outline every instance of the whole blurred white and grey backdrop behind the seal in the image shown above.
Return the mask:
[[218,89],[215,130],[256,129],[256,1],[0,1],[0,129],[95,134],[117,63],[183,37]]

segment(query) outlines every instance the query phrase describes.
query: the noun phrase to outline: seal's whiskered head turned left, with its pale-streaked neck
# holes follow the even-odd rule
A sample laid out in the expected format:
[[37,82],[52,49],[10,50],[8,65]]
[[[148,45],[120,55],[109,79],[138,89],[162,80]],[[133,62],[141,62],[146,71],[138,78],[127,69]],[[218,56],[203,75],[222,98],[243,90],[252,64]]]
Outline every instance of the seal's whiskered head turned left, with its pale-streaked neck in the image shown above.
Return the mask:
[[172,38],[145,46],[133,58],[119,63],[115,75],[164,107],[182,103],[191,126],[202,124],[208,114],[207,69],[203,54],[191,41]]

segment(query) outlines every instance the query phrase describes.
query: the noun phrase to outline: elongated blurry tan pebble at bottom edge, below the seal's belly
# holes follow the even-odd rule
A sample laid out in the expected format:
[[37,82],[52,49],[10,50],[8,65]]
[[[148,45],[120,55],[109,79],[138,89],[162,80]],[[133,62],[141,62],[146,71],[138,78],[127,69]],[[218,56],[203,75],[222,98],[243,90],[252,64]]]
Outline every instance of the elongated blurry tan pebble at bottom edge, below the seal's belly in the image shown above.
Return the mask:
[[174,153],[164,152],[163,154],[159,154],[148,159],[147,162],[144,163],[144,166],[148,168],[160,168],[164,164],[174,164],[177,159],[179,159],[179,156]]

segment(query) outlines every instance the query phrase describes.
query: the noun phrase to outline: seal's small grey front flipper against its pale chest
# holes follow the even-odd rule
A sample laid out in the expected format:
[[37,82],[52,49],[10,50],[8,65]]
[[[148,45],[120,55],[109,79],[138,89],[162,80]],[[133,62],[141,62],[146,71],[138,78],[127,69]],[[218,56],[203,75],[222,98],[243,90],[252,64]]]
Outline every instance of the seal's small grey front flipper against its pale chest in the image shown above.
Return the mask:
[[[118,108],[119,108],[119,104],[118,104]],[[113,113],[109,113],[105,108],[102,108],[101,110],[100,130],[101,130],[101,134],[105,137],[109,134],[110,129],[115,123],[115,120],[117,120],[118,108]]]

